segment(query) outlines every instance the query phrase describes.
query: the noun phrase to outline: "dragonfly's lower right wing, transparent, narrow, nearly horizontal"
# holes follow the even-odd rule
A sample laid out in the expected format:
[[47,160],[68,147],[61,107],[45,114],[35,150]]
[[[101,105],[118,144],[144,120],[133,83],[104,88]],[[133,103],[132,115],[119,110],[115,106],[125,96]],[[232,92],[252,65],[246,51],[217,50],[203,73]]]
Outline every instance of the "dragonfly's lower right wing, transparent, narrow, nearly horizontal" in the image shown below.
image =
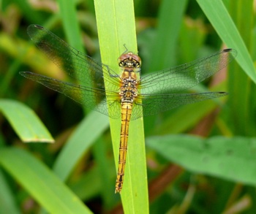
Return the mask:
[[[183,104],[191,104],[226,95],[227,93],[225,92],[140,94],[132,108],[131,120],[141,118],[142,116],[156,115],[158,112],[165,112]],[[143,114],[140,110],[141,106],[143,107]]]

